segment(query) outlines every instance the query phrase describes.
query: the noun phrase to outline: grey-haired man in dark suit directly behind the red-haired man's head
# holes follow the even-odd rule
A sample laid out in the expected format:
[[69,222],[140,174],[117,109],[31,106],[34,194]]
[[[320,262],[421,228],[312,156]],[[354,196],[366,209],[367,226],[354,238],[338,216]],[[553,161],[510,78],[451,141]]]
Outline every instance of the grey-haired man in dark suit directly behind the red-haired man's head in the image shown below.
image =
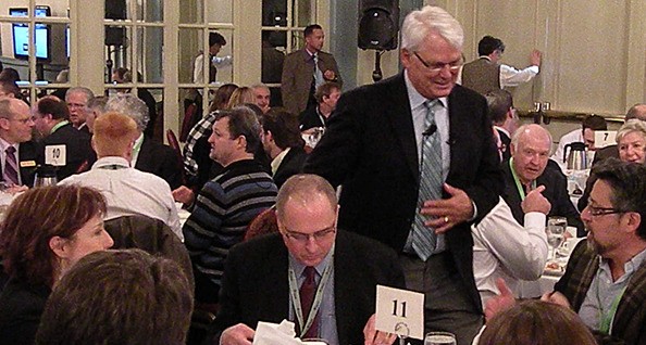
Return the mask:
[[135,141],[131,161],[136,169],[161,177],[171,190],[182,186],[184,170],[175,151],[144,135],[149,120],[148,107],[144,101],[132,93],[117,93],[105,103],[105,112],[127,115],[137,124],[139,137]]

